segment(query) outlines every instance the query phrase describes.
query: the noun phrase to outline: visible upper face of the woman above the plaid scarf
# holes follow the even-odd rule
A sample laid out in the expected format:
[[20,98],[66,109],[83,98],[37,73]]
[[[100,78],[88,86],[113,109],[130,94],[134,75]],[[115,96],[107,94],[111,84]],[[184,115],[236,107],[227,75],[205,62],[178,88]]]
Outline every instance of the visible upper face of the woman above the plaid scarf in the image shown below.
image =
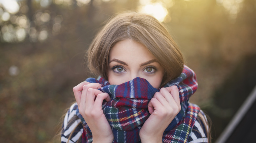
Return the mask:
[[163,69],[150,51],[139,42],[122,40],[109,53],[108,80],[119,85],[136,77],[146,79],[153,87],[159,88]]

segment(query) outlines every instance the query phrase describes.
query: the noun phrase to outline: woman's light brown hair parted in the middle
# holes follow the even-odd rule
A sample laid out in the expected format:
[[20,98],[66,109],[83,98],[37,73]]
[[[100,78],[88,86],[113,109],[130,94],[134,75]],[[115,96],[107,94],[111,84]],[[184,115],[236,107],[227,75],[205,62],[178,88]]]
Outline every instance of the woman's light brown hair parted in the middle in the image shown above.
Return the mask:
[[145,45],[164,69],[161,86],[178,77],[183,56],[166,28],[154,17],[126,12],[112,18],[96,35],[88,51],[88,67],[108,80],[109,51],[119,41],[131,39]]

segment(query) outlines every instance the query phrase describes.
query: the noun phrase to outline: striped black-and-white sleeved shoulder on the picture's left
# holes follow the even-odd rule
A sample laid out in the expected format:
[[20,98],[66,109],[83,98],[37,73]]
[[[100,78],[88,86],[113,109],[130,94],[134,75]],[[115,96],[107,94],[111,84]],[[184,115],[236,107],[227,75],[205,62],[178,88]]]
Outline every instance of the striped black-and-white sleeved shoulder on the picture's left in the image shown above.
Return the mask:
[[77,103],[71,105],[68,109],[62,125],[61,143],[76,142],[83,133],[83,126],[78,114]]

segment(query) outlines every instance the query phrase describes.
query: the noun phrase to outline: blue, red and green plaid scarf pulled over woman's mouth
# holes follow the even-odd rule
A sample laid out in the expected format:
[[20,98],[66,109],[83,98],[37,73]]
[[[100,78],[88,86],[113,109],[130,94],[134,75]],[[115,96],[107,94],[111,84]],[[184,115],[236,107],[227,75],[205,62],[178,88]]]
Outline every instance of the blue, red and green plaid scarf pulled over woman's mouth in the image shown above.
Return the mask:
[[[135,78],[120,85],[110,85],[103,77],[88,78],[87,82],[99,83],[99,90],[110,95],[111,101],[103,102],[103,112],[114,134],[113,143],[140,142],[139,130],[150,116],[147,104],[159,89],[152,87],[146,79]],[[189,97],[197,90],[197,80],[194,71],[184,66],[179,77],[168,82],[164,87],[177,86],[179,89],[181,111],[165,129],[162,137],[164,143],[184,143],[194,127],[200,108],[189,103]],[[79,113],[84,131],[82,142],[91,143],[93,136],[87,123]]]

